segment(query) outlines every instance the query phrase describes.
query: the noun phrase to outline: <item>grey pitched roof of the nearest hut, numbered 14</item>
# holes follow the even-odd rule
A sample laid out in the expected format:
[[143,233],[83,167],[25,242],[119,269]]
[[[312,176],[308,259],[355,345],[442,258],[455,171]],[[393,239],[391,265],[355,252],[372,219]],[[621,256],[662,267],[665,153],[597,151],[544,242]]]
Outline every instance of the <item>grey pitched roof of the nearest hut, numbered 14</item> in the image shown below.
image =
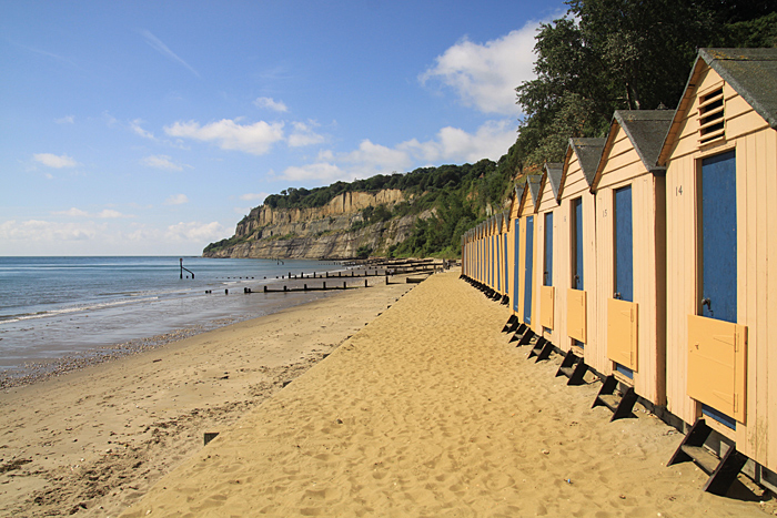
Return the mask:
[[685,112],[696,92],[696,81],[708,65],[717,72],[769,125],[777,130],[777,48],[699,49],[675,116],[664,139],[658,163],[665,163]]

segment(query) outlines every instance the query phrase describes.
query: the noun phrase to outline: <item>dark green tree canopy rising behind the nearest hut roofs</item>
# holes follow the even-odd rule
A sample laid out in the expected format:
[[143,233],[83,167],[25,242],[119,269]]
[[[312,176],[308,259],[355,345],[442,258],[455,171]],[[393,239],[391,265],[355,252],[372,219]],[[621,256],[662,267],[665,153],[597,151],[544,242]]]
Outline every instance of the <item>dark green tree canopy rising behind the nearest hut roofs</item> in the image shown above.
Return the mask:
[[519,166],[559,162],[574,136],[603,136],[615,110],[674,109],[702,47],[777,45],[760,0],[569,0],[541,26],[537,78],[516,88]]

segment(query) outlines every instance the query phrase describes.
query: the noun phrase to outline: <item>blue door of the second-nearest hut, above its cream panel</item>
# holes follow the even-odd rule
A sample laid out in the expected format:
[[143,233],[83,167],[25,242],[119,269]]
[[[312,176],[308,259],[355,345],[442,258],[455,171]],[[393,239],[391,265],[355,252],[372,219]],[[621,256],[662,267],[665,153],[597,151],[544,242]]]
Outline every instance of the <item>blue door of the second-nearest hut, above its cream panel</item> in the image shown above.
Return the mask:
[[630,185],[615,191],[615,298],[634,302]]

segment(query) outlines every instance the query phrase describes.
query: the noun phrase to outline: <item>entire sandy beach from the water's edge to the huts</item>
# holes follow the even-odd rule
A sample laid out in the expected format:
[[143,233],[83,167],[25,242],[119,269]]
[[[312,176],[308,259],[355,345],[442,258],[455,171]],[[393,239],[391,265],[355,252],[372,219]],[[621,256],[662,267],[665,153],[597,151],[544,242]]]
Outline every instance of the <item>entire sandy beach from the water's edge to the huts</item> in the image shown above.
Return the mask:
[[609,423],[591,409],[598,382],[568,387],[561,357],[527,360],[501,333],[507,308],[457,277],[346,292],[4,392],[0,515],[777,511],[747,500],[747,480],[720,498],[694,465],[666,467],[676,430],[642,407]]

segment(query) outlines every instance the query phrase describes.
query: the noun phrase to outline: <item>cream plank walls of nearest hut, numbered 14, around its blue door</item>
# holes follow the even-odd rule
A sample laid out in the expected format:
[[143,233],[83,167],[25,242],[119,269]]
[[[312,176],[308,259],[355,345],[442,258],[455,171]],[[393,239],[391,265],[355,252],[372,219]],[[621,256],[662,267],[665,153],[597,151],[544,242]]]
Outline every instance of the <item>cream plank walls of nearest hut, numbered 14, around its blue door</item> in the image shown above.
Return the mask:
[[[746,346],[744,372],[735,369],[733,405],[744,412],[735,417],[736,430],[709,417],[706,421],[736,440],[745,455],[777,471],[777,131],[703,60],[697,67],[689,82],[695,89],[686,92],[688,104],[678,110],[678,131],[667,139],[667,407],[686,423],[702,416],[702,403],[688,396],[689,315],[703,314],[704,295],[698,185],[705,159],[734,152],[736,324],[745,327]],[[700,145],[699,100],[720,87],[725,135]],[[713,311],[717,307],[713,301]]]

